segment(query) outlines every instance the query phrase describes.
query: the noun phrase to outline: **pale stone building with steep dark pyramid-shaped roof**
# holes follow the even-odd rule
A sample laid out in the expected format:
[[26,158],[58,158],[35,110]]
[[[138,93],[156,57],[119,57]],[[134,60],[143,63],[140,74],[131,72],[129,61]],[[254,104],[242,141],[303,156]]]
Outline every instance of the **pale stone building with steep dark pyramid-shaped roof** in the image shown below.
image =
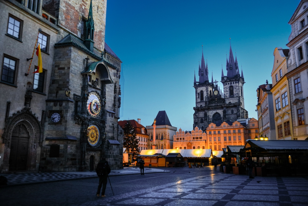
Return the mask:
[[172,127],[166,111],[159,111],[151,126],[147,126],[149,149],[172,149],[177,128]]

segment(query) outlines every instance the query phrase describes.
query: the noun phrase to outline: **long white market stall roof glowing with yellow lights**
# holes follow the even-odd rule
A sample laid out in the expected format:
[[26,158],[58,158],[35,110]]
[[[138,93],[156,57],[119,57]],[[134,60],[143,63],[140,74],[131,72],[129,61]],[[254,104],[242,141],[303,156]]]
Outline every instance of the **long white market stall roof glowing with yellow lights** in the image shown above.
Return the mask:
[[169,153],[180,153],[186,158],[209,158],[211,157],[211,149],[148,149],[141,150],[141,155],[153,155],[155,153],[161,153],[168,155]]

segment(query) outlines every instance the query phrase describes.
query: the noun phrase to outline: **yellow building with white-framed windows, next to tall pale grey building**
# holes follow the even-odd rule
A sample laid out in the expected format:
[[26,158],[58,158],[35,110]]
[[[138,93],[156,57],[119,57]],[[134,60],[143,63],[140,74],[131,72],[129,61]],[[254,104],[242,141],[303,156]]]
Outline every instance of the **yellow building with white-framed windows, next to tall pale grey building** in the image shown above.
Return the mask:
[[278,140],[293,140],[293,128],[291,119],[291,103],[289,82],[286,77],[287,58],[289,49],[277,47],[274,50],[274,66],[272,70],[273,86],[271,92],[274,102],[274,120],[276,128],[276,138]]

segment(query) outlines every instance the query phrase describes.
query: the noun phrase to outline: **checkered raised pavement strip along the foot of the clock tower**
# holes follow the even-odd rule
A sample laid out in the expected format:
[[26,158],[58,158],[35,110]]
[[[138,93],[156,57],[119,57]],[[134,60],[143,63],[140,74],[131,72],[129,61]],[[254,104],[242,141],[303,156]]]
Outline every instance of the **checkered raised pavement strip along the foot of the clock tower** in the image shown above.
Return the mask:
[[[156,168],[145,168],[144,173],[169,172],[169,170],[161,170]],[[126,167],[122,170],[111,170],[109,176],[139,174],[140,169],[137,167]],[[17,173],[17,174],[1,174],[8,180],[7,184],[22,185],[30,183],[54,182],[69,179],[96,178],[96,172],[44,172],[44,173]]]

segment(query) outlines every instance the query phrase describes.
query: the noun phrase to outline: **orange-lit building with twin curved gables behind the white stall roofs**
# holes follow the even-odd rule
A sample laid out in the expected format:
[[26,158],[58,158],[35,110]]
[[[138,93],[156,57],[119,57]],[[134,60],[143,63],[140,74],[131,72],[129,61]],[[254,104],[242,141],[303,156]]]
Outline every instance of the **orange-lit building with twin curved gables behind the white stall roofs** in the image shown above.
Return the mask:
[[206,146],[206,133],[195,127],[191,132],[181,128],[173,136],[173,149],[209,149]]

